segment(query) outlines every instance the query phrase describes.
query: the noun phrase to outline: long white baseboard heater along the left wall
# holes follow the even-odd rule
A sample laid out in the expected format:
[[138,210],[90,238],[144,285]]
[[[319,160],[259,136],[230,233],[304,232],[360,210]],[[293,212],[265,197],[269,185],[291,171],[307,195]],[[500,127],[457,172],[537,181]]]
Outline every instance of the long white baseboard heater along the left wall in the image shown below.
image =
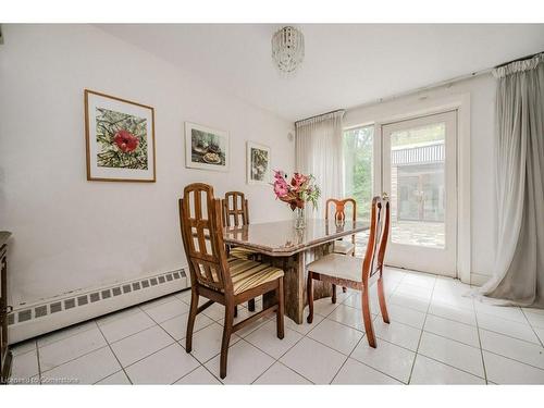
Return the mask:
[[185,269],[21,305],[8,316],[10,343],[151,300],[190,285]]

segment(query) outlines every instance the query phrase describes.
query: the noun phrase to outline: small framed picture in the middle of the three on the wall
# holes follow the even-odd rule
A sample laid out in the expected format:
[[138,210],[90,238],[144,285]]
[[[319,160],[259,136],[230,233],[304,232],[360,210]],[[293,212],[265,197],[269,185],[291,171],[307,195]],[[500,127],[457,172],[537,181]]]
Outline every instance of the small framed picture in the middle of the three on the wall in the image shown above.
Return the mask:
[[185,165],[190,169],[228,171],[228,133],[185,122]]

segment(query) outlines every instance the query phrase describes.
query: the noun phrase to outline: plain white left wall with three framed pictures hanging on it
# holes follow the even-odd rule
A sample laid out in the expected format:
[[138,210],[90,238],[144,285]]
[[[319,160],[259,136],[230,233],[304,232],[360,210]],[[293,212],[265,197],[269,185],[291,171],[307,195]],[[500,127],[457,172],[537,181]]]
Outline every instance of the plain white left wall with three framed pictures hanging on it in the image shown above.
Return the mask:
[[[0,228],[13,232],[12,304],[186,264],[177,198],[191,182],[247,193],[254,222],[287,219],[267,186],[245,184],[245,143],[293,171],[293,124],[87,25],[3,25]],[[218,55],[221,63],[221,55]],[[83,89],[154,107],[157,183],[87,182]],[[184,121],[228,131],[228,173],[189,170]]]

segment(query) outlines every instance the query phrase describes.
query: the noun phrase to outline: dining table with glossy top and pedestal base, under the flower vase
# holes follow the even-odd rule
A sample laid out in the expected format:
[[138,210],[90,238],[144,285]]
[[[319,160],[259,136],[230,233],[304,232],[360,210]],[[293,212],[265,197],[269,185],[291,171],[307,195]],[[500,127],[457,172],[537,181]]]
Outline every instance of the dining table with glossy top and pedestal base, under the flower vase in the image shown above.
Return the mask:
[[[251,249],[260,254],[261,261],[285,272],[285,314],[302,323],[306,299],[306,265],[332,252],[334,240],[369,228],[364,221],[307,220],[306,227],[296,230],[293,221],[247,224],[224,228],[225,244]],[[332,286],[316,282],[314,299],[332,295]],[[274,294],[263,296],[263,306],[274,301]]]

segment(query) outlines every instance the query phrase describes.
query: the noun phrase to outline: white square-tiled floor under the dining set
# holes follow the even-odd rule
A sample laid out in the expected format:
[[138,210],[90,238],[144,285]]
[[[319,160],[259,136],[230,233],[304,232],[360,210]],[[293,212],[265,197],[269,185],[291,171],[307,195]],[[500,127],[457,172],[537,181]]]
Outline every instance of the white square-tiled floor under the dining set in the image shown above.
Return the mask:
[[[320,299],[313,324],[274,318],[233,336],[219,379],[223,309],[197,318],[185,353],[189,293],[139,305],[15,345],[13,383],[85,384],[544,384],[544,310],[463,297],[459,281],[385,271],[391,324],[372,296],[378,348],[368,346],[360,296]],[[260,302],[258,302],[260,307]],[[250,312],[242,307],[239,318]],[[239,319],[238,318],[238,319]]]

